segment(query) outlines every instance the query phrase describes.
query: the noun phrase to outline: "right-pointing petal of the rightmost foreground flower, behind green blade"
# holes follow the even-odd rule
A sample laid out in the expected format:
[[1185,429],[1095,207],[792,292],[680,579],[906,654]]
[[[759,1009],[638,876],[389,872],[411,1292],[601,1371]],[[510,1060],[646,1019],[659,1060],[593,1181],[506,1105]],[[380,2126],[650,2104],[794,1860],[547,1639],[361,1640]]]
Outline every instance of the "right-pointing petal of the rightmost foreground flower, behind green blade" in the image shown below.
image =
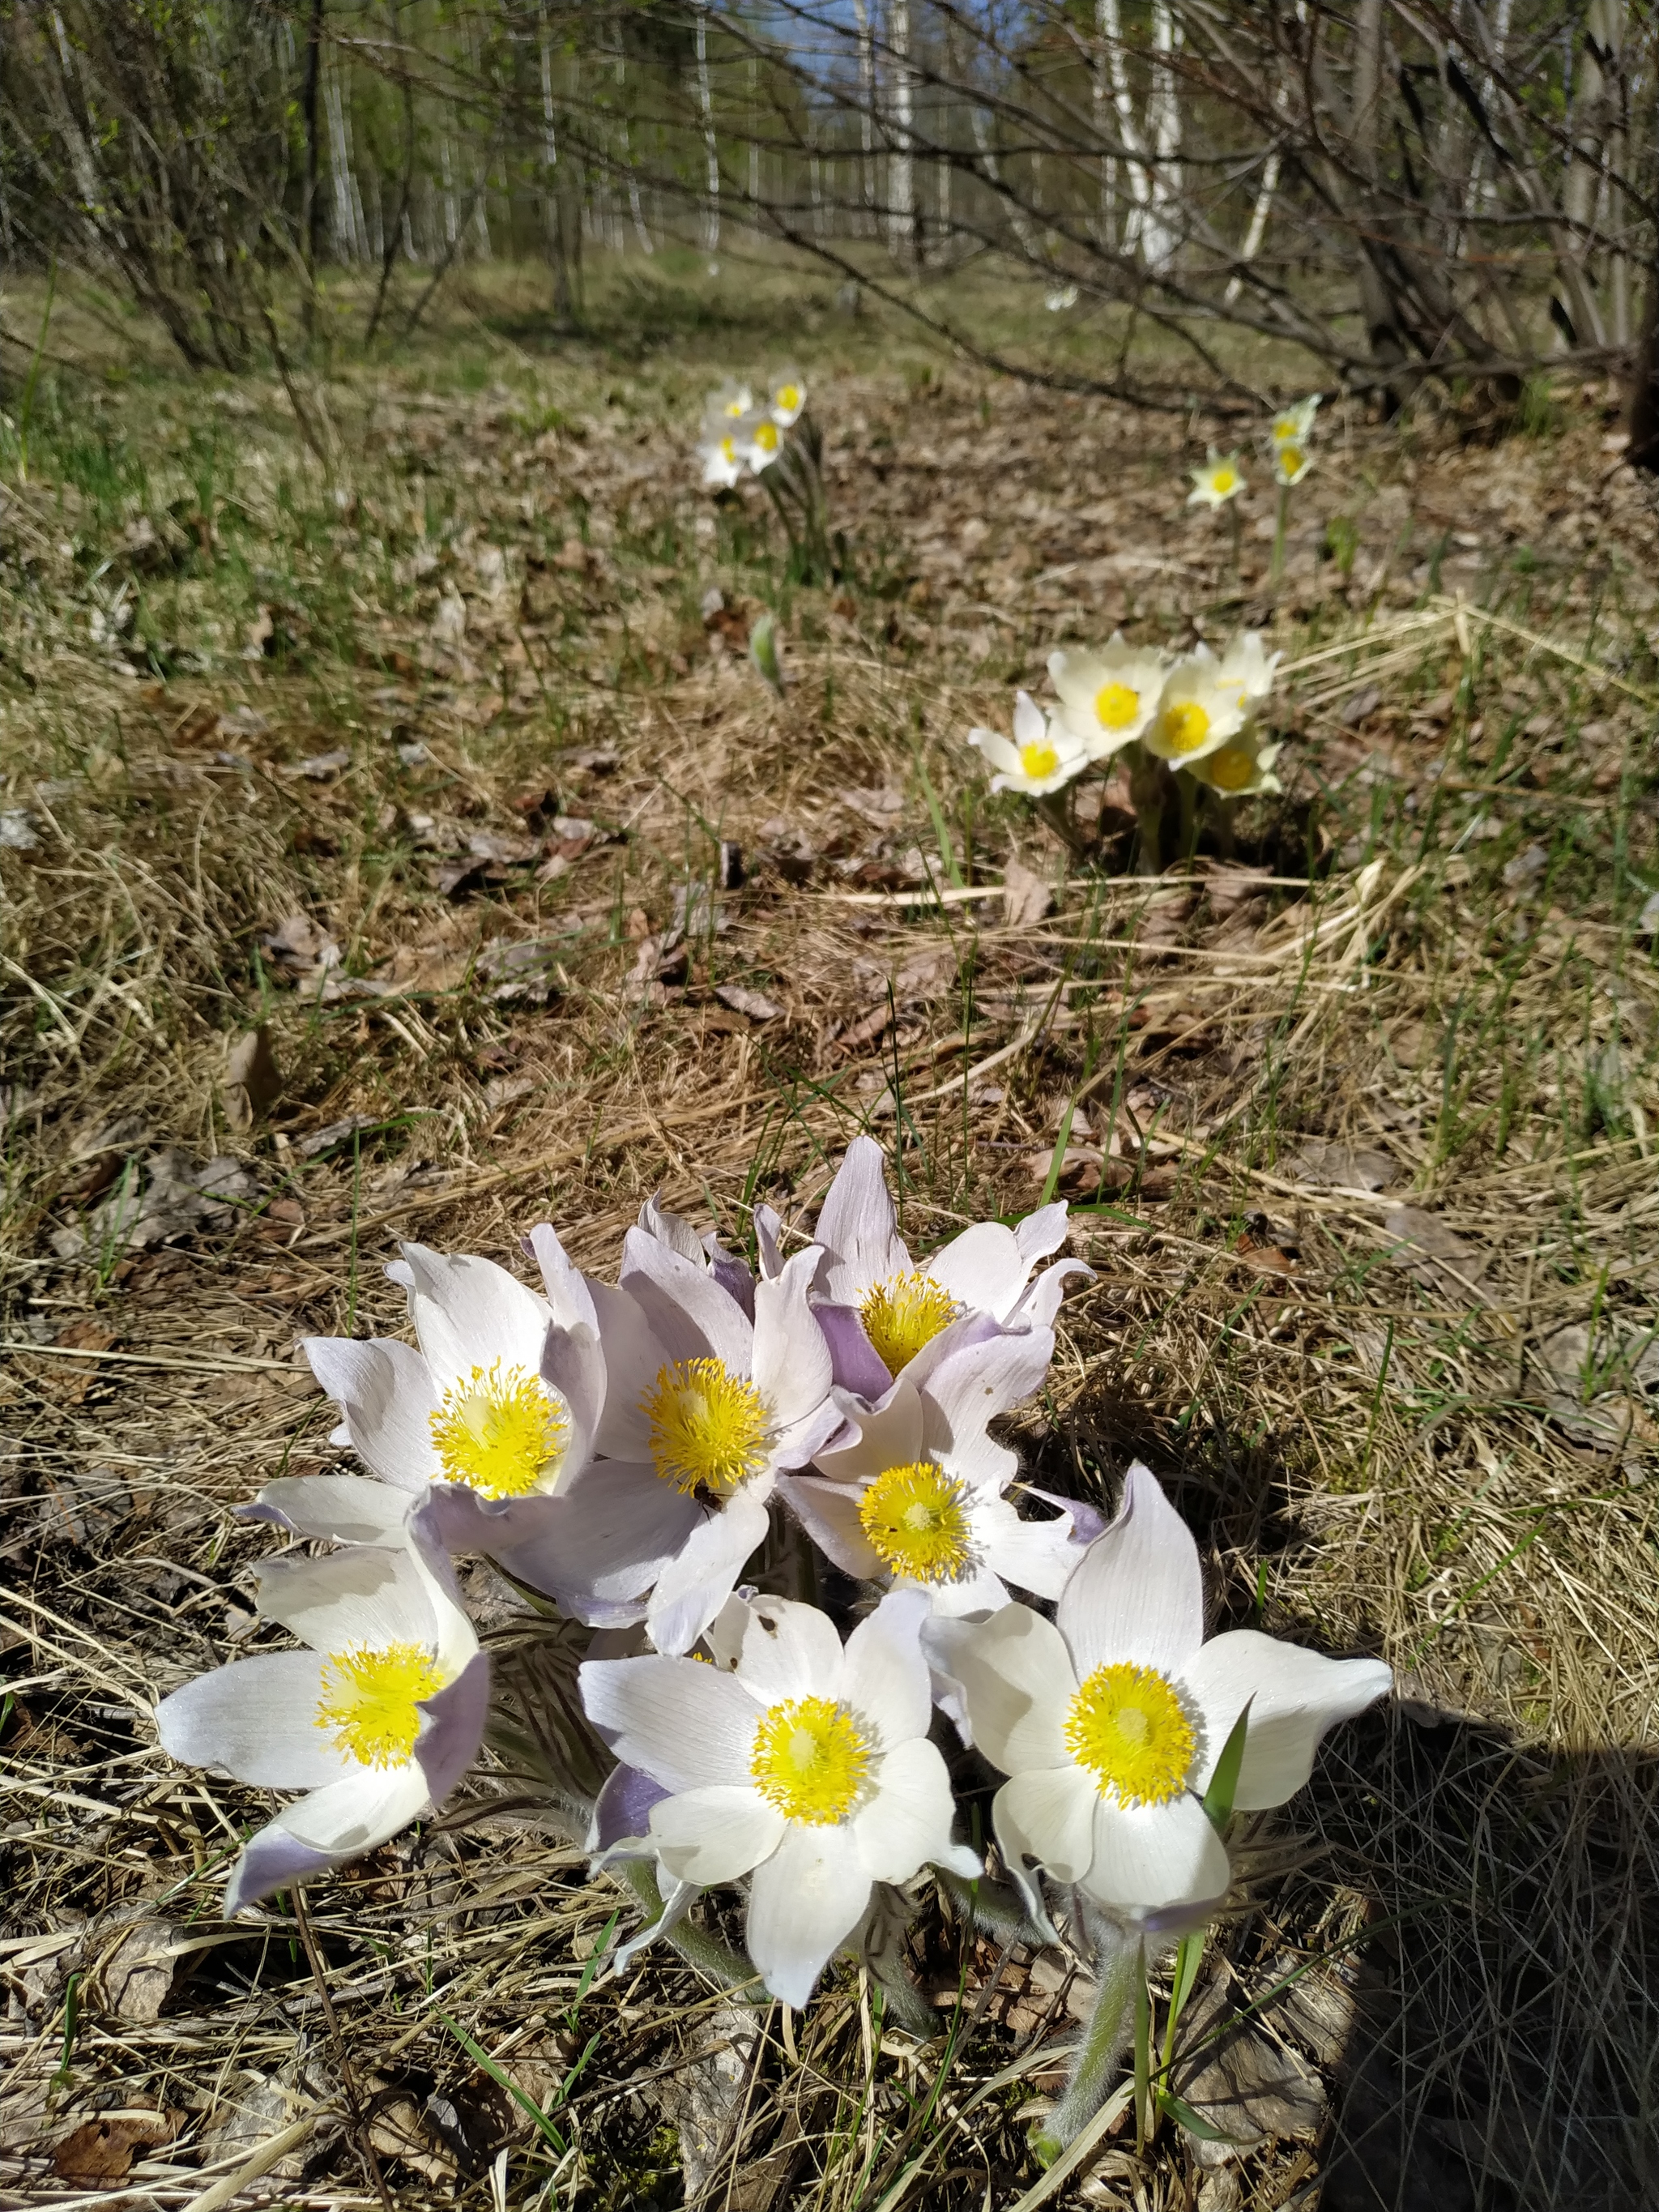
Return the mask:
[[1394,1683],[1380,1659],[1325,1659],[1254,1628],[1212,1637],[1188,1659],[1181,1679],[1203,1712],[1197,1790],[1208,1787],[1232,1723],[1245,1699],[1254,1699],[1234,1796],[1239,1812],[1283,1805],[1294,1796],[1314,1772],[1325,1730],[1365,1712]]

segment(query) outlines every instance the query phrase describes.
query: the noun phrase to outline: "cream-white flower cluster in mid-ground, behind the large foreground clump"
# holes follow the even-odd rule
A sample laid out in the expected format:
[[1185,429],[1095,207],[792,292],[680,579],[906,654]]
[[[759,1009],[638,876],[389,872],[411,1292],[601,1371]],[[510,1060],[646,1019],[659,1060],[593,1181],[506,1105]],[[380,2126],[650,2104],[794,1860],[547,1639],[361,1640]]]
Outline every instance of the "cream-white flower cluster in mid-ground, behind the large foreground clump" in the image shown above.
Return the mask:
[[1281,745],[1265,743],[1259,728],[1276,666],[1261,630],[1241,630],[1221,657],[1208,646],[1181,655],[1126,646],[1115,633],[1106,646],[1048,655],[1057,706],[1044,712],[1020,692],[1013,739],[969,730],[969,743],[991,761],[993,792],[1029,799],[1057,792],[1128,748],[1186,770],[1223,799],[1276,792]]

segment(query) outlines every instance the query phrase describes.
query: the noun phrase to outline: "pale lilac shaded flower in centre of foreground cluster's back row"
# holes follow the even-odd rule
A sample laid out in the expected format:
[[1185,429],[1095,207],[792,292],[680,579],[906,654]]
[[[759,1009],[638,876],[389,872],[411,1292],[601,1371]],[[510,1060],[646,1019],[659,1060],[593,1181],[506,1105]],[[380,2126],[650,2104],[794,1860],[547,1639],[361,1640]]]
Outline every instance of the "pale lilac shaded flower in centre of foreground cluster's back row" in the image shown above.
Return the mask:
[[818,1252],[754,1285],[754,1318],[710,1272],[628,1230],[622,1283],[588,1281],[606,1360],[599,1458],[538,1531],[498,1557],[538,1588],[580,1588],[593,1621],[641,1619],[684,1652],[765,1542],[779,1469],[841,1427],[823,1329],[807,1305]]

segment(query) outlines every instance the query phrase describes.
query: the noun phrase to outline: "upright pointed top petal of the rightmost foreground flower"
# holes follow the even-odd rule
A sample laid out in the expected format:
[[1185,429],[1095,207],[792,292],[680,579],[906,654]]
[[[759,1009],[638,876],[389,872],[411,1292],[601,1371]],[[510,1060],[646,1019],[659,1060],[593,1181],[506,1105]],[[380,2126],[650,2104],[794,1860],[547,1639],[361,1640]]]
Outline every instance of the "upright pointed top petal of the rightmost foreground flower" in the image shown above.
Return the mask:
[[1139,1460],[1124,1475],[1117,1520],[1060,1593],[1057,1617],[1079,1681],[1119,1659],[1170,1674],[1203,1641],[1199,1546]]

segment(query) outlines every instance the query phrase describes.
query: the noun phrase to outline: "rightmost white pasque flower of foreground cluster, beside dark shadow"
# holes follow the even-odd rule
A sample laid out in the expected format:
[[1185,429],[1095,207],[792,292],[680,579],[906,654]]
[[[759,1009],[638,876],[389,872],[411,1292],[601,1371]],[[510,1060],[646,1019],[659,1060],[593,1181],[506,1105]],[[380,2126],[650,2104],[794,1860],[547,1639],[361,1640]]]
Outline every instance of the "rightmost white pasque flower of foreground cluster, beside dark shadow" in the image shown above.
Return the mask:
[[962,1686],[973,1741],[1009,1776],[991,1820],[1033,1913],[1029,1860],[1119,1918],[1199,1918],[1228,1891],[1203,1809],[1214,1763],[1250,1708],[1234,1805],[1283,1805],[1318,1739],[1389,1690],[1380,1659],[1323,1659],[1254,1628],[1203,1641],[1199,1548],[1141,1464],[1060,1593],[927,1628]]

